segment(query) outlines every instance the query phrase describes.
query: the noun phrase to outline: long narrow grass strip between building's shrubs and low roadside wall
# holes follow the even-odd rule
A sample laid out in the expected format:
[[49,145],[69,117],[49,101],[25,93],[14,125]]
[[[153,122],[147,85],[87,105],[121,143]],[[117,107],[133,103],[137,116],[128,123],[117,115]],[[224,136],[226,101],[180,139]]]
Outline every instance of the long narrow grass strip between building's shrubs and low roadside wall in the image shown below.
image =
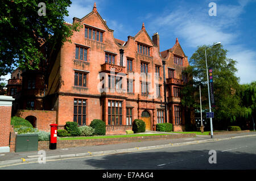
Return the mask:
[[87,139],[104,139],[104,138],[125,138],[125,137],[138,137],[138,136],[157,136],[169,134],[126,134],[126,135],[113,135],[113,136],[85,136],[85,137],[63,137],[59,140],[87,140]]

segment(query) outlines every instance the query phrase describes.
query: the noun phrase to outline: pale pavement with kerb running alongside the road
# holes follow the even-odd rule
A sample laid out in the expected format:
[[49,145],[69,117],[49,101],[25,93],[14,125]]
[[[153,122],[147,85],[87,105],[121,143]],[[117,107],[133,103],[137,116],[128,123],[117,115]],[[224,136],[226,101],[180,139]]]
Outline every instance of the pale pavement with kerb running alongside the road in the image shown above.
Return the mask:
[[[161,133],[148,131],[150,133]],[[166,133],[166,132],[164,132]],[[145,133],[143,133],[145,134]],[[179,133],[170,133],[179,134]],[[199,144],[202,142],[212,142],[221,140],[230,140],[241,137],[255,137],[256,132],[236,133],[236,134],[222,134],[215,135],[210,138],[208,135],[197,135],[196,137],[175,138],[169,140],[153,140],[153,141],[138,141],[127,142],[125,144],[112,144],[112,145],[93,145],[93,146],[80,146],[56,150],[43,150],[43,151],[27,151],[18,153],[0,153],[0,168],[1,166],[13,165],[16,163],[35,162],[42,158],[42,154],[46,155],[46,161],[60,158],[75,158],[75,157],[89,157],[90,155],[104,155],[104,154],[117,154],[127,153],[138,150],[168,148],[171,146],[181,146],[189,144]]]

